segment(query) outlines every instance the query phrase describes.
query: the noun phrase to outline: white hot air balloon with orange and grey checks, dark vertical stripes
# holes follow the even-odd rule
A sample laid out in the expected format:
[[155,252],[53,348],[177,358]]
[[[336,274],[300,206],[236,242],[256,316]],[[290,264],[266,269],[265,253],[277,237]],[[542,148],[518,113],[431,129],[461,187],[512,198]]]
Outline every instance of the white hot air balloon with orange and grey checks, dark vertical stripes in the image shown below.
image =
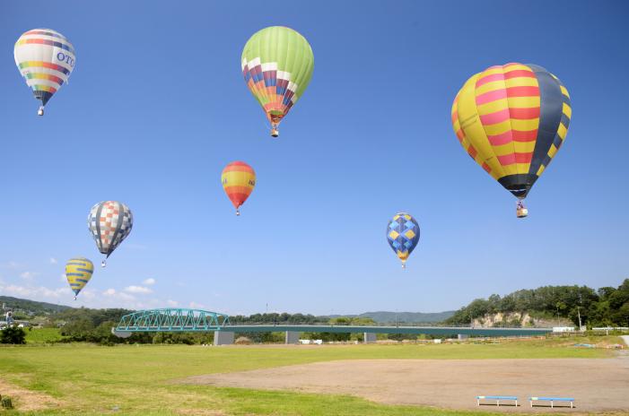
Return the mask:
[[[118,201],[104,201],[92,206],[87,216],[87,226],[96,247],[105,259],[127,238],[133,228],[133,214],[127,205]],[[100,264],[105,267],[105,260]]]

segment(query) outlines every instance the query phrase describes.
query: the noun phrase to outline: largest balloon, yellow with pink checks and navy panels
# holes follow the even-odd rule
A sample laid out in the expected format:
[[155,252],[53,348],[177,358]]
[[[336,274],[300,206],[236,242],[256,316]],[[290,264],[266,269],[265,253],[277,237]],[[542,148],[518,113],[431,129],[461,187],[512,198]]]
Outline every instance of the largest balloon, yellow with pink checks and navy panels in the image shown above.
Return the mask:
[[561,147],[572,116],[562,82],[537,65],[487,68],[467,80],[452,105],[452,127],[467,153],[519,200]]

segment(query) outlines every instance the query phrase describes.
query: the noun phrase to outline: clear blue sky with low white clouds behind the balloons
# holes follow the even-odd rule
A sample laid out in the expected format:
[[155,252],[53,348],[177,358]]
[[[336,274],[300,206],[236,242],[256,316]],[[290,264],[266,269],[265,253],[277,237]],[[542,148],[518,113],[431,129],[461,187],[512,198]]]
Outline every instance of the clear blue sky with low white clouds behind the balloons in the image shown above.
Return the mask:
[[[87,307],[230,314],[440,311],[546,284],[629,277],[624,187],[629,4],[532,1],[12,1],[0,4],[0,294]],[[240,74],[249,36],[301,32],[308,90],[268,136]],[[76,66],[37,117],[13,43],[47,27]],[[467,78],[545,66],[572,97],[566,143],[527,199],[460,147],[450,105]],[[233,214],[232,160],[258,186]],[[100,262],[86,217],[127,204],[134,230],[74,302],[66,260]],[[385,228],[411,212],[405,271]]]

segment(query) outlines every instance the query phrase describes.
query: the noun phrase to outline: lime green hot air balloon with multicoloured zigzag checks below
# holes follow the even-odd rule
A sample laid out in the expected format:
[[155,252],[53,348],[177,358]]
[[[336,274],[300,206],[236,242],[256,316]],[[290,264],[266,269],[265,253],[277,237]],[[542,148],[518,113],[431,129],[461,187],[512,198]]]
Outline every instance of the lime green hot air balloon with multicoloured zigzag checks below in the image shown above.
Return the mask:
[[301,98],[312,77],[308,40],[293,29],[271,26],[256,32],[242,50],[242,74],[277,137],[280,121]]

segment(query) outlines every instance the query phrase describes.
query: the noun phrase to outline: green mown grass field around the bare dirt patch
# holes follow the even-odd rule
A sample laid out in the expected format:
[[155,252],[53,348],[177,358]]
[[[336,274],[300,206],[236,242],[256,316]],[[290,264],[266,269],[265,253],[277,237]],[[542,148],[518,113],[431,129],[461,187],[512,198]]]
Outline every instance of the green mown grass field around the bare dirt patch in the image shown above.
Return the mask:
[[[617,342],[613,337],[597,340]],[[574,342],[560,339],[500,344],[301,347],[26,345],[0,347],[0,379],[57,399],[57,408],[33,414],[480,415],[483,413],[379,405],[342,395],[188,386],[172,381],[326,360],[605,358],[613,354],[568,346]],[[587,340],[579,338],[577,342]],[[21,404],[20,400],[16,403]]]

